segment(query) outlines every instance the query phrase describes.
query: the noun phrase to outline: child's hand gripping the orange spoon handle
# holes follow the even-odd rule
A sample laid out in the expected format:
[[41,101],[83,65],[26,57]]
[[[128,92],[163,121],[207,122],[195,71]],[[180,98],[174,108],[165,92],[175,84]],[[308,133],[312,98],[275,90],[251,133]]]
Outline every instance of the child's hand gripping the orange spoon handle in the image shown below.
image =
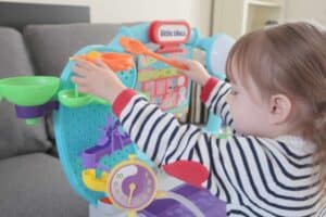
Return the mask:
[[191,80],[203,86],[210,79],[210,74],[198,61],[184,60],[179,62],[189,68],[188,71],[180,71],[180,73],[189,77]]

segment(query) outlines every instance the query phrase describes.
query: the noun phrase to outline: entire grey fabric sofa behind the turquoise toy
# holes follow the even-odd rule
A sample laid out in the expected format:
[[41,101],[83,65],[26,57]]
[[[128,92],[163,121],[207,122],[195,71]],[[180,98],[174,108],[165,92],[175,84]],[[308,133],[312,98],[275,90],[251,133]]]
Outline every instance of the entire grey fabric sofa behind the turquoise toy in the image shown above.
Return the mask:
[[[104,44],[117,24],[28,25],[23,34],[0,27],[0,78],[54,75],[88,44]],[[37,126],[0,103],[0,216],[88,216],[88,204],[70,187],[55,154],[51,116]]]

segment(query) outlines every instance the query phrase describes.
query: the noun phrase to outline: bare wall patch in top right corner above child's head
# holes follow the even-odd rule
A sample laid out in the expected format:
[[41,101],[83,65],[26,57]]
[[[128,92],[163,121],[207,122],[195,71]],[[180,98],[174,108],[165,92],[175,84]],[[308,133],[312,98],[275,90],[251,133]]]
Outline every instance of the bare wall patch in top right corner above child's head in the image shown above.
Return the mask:
[[286,20],[315,20],[326,25],[325,0],[287,0]]

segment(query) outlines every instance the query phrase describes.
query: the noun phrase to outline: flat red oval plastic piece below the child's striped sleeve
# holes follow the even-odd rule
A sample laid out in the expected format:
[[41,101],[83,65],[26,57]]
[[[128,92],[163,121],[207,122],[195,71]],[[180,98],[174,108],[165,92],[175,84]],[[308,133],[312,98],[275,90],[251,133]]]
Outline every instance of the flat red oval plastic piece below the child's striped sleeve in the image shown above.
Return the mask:
[[177,161],[164,165],[163,169],[170,176],[199,188],[209,178],[209,170],[198,162]]

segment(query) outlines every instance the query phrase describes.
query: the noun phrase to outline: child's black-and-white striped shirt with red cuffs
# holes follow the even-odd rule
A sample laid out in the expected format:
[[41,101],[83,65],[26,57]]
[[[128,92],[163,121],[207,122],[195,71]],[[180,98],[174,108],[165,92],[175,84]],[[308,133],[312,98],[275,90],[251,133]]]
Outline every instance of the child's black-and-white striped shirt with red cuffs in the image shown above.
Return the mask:
[[[211,78],[201,99],[233,127],[229,85]],[[234,133],[218,139],[195,125],[180,125],[133,90],[124,90],[113,111],[135,143],[159,166],[196,161],[210,174],[203,183],[226,202],[227,216],[314,216],[321,201],[313,166],[314,145],[301,138],[276,139]]]

